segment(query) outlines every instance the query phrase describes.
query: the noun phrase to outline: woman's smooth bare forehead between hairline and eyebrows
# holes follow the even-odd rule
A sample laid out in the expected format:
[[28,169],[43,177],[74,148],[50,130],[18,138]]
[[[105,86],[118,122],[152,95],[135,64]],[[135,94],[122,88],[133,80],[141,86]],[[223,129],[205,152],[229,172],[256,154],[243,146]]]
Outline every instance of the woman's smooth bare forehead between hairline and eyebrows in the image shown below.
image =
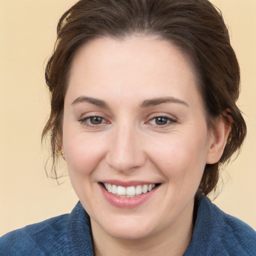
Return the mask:
[[[67,96],[85,94],[112,98],[173,96],[200,97],[189,58],[176,46],[156,36],[122,40],[102,37],[82,45],[70,68]],[[91,95],[90,95],[91,94]],[[154,94],[154,95],[152,95]]]

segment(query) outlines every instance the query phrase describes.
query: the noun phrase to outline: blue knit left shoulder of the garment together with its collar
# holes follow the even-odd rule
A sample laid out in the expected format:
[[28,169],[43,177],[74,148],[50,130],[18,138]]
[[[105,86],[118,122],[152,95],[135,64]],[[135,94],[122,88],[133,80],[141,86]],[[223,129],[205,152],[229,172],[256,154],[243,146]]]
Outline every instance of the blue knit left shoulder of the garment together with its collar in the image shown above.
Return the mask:
[[90,218],[81,203],[69,214],[11,231],[0,238],[0,256],[92,256]]

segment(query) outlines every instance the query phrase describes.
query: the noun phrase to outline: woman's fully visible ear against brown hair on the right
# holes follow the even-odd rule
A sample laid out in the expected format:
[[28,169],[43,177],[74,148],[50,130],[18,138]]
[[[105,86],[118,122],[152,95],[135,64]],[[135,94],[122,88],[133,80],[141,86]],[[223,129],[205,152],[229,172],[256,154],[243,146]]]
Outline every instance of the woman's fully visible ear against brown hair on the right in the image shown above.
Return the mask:
[[217,162],[224,150],[227,136],[231,130],[231,124],[233,122],[230,114],[230,109],[223,110],[222,114],[217,120],[214,130],[211,131],[209,136],[209,148],[206,155],[206,163]]

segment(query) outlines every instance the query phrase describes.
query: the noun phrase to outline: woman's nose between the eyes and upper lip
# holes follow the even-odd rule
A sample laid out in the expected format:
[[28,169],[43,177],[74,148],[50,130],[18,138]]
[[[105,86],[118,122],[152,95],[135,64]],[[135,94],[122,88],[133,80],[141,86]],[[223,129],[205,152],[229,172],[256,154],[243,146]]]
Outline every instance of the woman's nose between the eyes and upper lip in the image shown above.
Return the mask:
[[130,172],[146,161],[141,134],[134,127],[127,125],[116,127],[108,148],[106,161],[117,171]]

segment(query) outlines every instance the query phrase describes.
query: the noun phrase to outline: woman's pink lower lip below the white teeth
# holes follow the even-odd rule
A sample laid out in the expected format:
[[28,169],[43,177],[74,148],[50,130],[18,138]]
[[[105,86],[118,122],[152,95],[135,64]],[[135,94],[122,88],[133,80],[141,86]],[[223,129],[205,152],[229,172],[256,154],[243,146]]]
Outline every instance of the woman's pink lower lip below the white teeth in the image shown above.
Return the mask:
[[112,193],[109,193],[101,184],[99,185],[102,190],[103,196],[110,204],[112,204],[115,207],[126,208],[126,209],[134,208],[143,204],[153,195],[155,190],[158,188],[157,186],[147,193],[142,193],[133,197],[121,197],[121,196],[117,196]]

